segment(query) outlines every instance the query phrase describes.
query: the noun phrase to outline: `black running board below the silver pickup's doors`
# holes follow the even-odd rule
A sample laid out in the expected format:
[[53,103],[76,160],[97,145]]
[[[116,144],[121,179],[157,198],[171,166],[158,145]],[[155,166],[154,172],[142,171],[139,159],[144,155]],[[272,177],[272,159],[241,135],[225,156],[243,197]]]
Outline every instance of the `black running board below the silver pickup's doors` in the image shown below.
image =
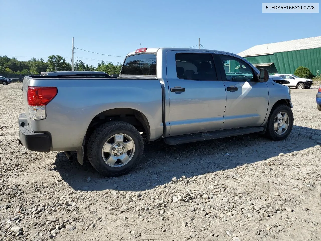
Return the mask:
[[226,129],[226,130],[214,130],[214,131],[207,131],[207,132],[200,132],[200,133],[193,133],[193,134],[186,134],[180,136],[172,136],[166,137],[165,143],[168,145],[177,145],[195,141],[202,141],[202,140],[212,140],[218,138],[225,138],[231,136],[239,136],[250,134],[254,132],[263,131],[263,126],[250,126],[250,127],[240,127],[240,128],[233,128],[233,129]]

